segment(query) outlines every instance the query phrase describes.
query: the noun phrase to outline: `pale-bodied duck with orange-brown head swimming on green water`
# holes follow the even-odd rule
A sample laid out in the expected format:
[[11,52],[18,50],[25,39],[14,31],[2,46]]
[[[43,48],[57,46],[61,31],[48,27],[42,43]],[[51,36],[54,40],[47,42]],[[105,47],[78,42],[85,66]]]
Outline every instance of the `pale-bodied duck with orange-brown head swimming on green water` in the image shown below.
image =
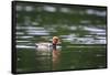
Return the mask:
[[46,50],[56,50],[59,49],[61,42],[59,42],[59,38],[58,36],[53,36],[53,41],[52,43],[50,42],[41,42],[41,43],[35,43],[35,46],[37,50],[40,51],[46,51]]

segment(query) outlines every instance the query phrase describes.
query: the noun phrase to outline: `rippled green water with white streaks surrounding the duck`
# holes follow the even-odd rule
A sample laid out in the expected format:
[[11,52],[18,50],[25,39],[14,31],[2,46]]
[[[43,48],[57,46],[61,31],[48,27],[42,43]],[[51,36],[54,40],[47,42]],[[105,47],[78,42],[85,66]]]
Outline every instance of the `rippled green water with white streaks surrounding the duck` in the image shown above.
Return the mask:
[[[105,68],[107,9],[16,3],[16,72]],[[61,49],[35,43],[61,39]]]

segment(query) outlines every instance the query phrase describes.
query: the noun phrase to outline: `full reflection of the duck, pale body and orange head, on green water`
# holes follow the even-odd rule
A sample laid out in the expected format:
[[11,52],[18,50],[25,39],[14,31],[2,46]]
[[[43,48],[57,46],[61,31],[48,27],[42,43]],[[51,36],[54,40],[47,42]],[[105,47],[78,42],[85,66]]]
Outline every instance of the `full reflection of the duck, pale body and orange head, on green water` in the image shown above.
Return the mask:
[[36,72],[54,71],[59,63],[61,50],[37,50],[36,49]]

